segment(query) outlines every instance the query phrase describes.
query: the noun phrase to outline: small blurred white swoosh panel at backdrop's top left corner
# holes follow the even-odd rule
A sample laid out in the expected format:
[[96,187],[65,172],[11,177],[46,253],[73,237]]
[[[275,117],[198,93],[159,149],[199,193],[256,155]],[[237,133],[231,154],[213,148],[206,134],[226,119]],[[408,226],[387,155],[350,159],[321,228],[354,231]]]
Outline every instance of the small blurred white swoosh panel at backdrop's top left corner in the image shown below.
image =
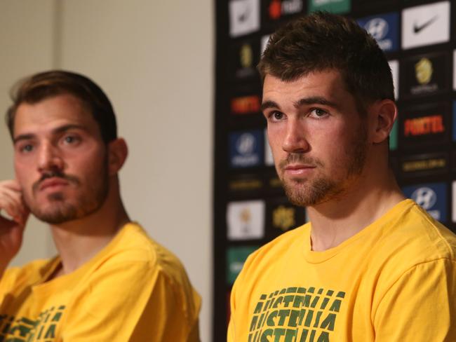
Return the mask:
[[229,2],[229,35],[249,34],[260,29],[260,0]]

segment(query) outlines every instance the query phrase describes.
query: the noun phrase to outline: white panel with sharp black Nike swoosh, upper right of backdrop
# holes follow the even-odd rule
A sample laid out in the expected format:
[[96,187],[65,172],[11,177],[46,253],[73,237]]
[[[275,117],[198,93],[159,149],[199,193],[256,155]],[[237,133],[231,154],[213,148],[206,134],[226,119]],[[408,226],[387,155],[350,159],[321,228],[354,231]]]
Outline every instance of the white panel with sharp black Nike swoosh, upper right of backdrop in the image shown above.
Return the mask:
[[450,1],[405,8],[402,48],[416,48],[450,40]]

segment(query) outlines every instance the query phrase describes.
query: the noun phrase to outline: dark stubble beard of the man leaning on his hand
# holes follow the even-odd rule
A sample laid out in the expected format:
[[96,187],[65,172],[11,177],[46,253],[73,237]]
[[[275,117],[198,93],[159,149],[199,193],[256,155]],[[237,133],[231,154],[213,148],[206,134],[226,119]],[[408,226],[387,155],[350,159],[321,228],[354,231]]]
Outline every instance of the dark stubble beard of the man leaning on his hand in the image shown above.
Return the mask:
[[[79,179],[74,176],[55,175],[55,177],[62,177],[70,183],[70,186],[81,186]],[[100,177],[97,180],[98,182],[94,182],[94,184],[86,184],[90,192],[79,193],[74,203],[70,203],[62,192],[49,194],[47,197],[49,205],[46,208],[41,207],[36,200],[27,200],[27,197],[25,197],[25,203],[37,219],[47,224],[63,224],[82,219],[100,210],[105,203],[109,192],[107,160],[103,163]]]

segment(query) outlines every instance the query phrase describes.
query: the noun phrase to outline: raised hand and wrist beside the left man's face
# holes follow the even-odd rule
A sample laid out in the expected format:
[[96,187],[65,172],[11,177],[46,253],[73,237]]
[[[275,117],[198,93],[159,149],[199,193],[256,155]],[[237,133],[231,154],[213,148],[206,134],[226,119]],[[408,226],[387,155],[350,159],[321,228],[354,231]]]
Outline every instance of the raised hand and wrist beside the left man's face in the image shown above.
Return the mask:
[[22,245],[22,233],[29,216],[29,209],[22,198],[22,189],[15,180],[0,182],[0,274]]

